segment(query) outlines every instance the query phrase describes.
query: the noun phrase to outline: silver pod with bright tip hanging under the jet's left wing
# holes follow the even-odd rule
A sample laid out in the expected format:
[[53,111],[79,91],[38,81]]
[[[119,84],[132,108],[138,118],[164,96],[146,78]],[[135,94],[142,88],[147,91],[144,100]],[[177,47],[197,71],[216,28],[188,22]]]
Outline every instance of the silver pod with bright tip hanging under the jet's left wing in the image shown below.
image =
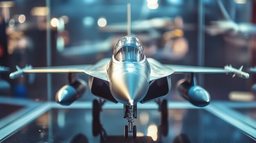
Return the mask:
[[60,88],[55,96],[55,101],[63,106],[69,106],[76,99],[81,97],[86,90],[86,82],[76,79],[72,84],[67,84]]

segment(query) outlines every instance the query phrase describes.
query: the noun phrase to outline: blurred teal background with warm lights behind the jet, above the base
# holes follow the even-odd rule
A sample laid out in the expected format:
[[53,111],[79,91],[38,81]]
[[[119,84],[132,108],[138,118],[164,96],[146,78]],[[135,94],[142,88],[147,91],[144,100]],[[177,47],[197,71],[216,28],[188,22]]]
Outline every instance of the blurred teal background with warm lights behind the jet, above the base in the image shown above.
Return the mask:
[[[163,64],[243,70],[256,65],[254,0],[7,0],[0,1],[0,65],[10,72],[33,67],[94,64],[111,57],[126,35],[126,4],[131,3],[132,35],[146,57]],[[47,26],[49,23],[49,26]],[[183,100],[171,75],[170,100]],[[1,74],[2,96],[54,100],[66,74],[36,74],[15,80]],[[87,75],[79,78],[88,81]],[[198,84],[213,100],[254,101],[256,76],[198,75]],[[47,87],[48,86],[48,87]],[[47,92],[48,91],[48,92]],[[47,96],[48,95],[48,96]],[[89,90],[80,100],[91,101]]]

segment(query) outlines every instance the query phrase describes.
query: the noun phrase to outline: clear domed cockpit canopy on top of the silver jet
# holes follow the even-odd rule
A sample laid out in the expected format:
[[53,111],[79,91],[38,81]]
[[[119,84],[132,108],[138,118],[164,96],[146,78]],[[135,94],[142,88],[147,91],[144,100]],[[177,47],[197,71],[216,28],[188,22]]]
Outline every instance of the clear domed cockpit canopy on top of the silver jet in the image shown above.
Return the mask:
[[114,57],[119,62],[139,62],[144,59],[144,49],[139,39],[125,36],[115,45]]

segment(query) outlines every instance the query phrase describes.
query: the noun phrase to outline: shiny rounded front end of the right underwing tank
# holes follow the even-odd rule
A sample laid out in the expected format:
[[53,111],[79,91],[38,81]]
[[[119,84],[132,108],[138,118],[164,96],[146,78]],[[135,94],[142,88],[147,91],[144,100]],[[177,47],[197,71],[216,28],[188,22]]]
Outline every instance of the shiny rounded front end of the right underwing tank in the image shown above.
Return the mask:
[[199,107],[204,107],[209,105],[211,101],[211,96],[207,90],[201,86],[194,86],[189,90],[189,101]]

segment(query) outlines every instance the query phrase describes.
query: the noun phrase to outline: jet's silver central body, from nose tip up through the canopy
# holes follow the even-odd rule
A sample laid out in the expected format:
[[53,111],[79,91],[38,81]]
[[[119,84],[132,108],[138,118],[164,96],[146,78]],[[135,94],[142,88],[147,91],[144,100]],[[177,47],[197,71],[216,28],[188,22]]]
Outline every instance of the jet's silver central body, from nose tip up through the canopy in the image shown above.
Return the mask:
[[[137,51],[137,54],[132,51],[129,55],[128,49],[123,51],[124,53],[119,53],[120,49],[126,46],[136,47],[134,52]],[[138,51],[141,51],[143,56],[139,56]],[[124,60],[118,61],[116,59],[119,58],[118,54]],[[130,56],[139,60],[130,61]],[[118,102],[132,105],[145,97],[149,88],[150,65],[144,55],[142,44],[136,37],[125,36],[117,42],[114,54],[107,66],[107,76],[110,92]]]

